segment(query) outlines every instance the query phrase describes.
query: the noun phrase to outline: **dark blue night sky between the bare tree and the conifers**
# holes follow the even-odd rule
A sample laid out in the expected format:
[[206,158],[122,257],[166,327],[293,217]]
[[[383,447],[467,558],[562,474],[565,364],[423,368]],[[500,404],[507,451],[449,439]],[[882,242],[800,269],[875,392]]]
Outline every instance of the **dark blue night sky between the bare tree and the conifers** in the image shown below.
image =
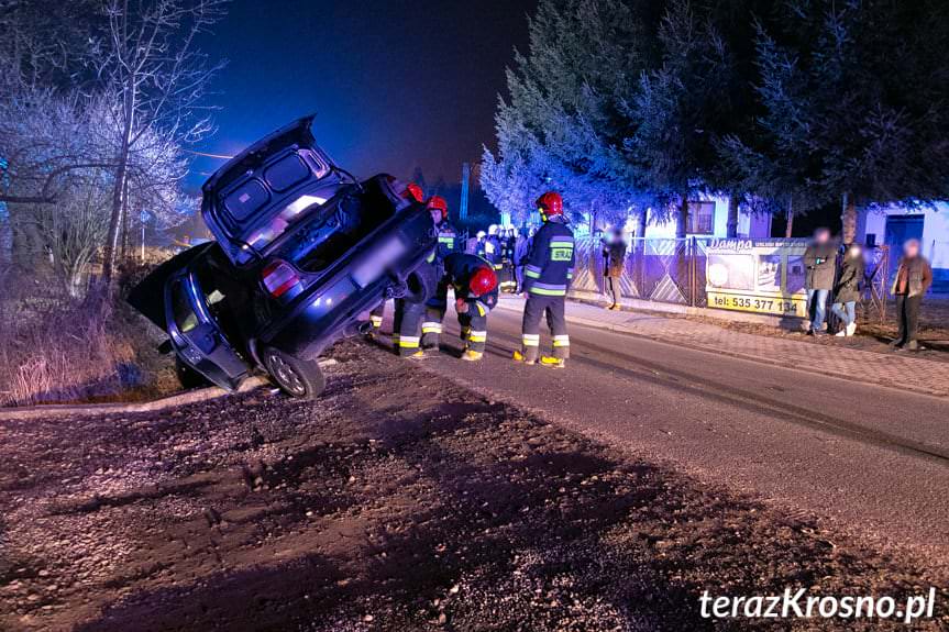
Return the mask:
[[[234,0],[201,47],[218,133],[200,149],[234,154],[316,112],[320,144],[357,176],[460,179],[494,146],[494,110],[537,0]],[[199,158],[198,185],[221,160]],[[203,171],[203,174],[202,174]]]

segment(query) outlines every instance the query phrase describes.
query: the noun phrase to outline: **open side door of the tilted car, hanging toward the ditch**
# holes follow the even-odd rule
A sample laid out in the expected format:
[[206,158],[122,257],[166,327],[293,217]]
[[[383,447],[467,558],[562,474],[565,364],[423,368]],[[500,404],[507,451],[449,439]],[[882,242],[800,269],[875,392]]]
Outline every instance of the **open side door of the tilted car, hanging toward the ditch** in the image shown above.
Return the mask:
[[173,275],[165,285],[165,313],[172,346],[181,361],[227,390],[235,390],[250,373],[245,363],[214,320],[209,304],[223,295],[202,291],[190,267]]

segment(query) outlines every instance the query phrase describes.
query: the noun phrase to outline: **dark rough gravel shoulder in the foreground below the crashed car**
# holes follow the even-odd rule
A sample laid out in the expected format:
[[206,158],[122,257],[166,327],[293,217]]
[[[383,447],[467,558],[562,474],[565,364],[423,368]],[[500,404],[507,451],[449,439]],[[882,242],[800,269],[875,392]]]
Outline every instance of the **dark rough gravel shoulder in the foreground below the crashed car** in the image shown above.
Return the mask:
[[[379,348],[317,403],[0,422],[2,630],[798,630],[698,597],[922,594],[908,558]],[[886,629],[867,621],[865,629]],[[894,623],[893,629],[906,629]]]

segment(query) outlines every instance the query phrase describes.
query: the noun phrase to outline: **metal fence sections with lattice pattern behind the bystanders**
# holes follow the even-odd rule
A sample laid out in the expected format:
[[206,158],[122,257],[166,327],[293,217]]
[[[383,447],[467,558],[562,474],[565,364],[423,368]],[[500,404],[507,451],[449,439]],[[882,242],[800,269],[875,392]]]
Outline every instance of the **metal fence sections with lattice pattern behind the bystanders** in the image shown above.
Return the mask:
[[[631,240],[620,277],[622,298],[707,307],[705,274],[711,241],[708,237]],[[573,287],[606,293],[606,259],[599,239],[578,236],[575,254]],[[868,318],[883,320],[890,278],[889,248],[868,248],[867,259],[863,310]]]

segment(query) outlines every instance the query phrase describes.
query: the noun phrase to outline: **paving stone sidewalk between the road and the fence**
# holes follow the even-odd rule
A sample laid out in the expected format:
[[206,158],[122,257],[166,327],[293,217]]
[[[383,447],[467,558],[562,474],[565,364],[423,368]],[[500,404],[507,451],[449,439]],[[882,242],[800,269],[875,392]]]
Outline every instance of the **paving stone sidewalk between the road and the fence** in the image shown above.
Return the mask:
[[[504,296],[501,309],[522,311],[523,299]],[[805,341],[755,335],[727,330],[710,323],[654,313],[608,311],[600,307],[567,301],[566,318],[588,326],[629,333],[702,348],[744,359],[809,370],[871,384],[949,396],[949,363],[912,355],[875,353]]]

